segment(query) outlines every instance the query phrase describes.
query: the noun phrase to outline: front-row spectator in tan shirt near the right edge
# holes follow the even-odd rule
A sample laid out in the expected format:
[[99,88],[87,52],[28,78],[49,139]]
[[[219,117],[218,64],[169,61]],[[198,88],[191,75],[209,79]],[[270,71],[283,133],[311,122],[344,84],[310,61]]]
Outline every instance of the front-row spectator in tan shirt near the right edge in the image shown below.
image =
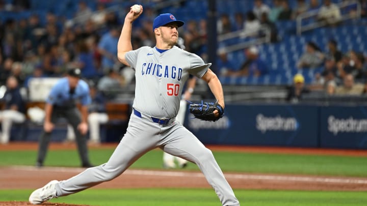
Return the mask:
[[364,85],[355,83],[352,74],[347,74],[343,79],[343,85],[336,87],[336,95],[361,95],[364,91]]

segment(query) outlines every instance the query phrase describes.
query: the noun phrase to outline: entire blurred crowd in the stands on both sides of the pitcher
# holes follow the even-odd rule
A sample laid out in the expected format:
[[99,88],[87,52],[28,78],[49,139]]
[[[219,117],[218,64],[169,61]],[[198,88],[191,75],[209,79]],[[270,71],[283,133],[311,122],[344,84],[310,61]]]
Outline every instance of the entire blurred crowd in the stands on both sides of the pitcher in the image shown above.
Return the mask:
[[[72,19],[48,12],[45,19],[40,19],[40,16],[34,13],[29,18],[9,18],[2,22],[0,85],[5,85],[9,76],[15,76],[19,85],[28,87],[29,80],[33,77],[60,77],[67,69],[75,67],[81,68],[83,77],[95,86],[102,77],[112,81],[111,84],[102,85],[116,86],[115,83],[118,82],[120,86],[124,86],[134,80],[133,71],[125,69],[116,55],[116,45],[123,23],[119,13],[125,14],[129,7],[126,7],[125,11],[107,10],[106,3],[109,2],[111,1],[99,0],[93,10],[87,1],[78,1],[75,3],[77,10]],[[367,1],[359,2],[362,6],[362,16],[365,17]],[[217,32],[219,35],[240,30],[256,32],[260,26],[268,26],[272,33],[271,41],[276,42],[276,21],[294,20],[303,12],[312,10],[318,10],[319,20],[328,21],[330,24],[337,23],[339,19],[338,8],[329,0],[297,0],[296,7],[291,7],[289,3],[288,0],[273,0],[272,5],[267,5],[264,1],[254,0],[252,9],[235,13],[233,16],[220,14]],[[178,6],[184,6],[186,2],[179,4],[181,5]],[[13,0],[9,5],[0,0],[0,9],[29,10],[30,2]],[[354,11],[353,9],[351,8],[351,11]],[[155,45],[151,28],[156,12],[152,7],[144,7],[143,15],[134,24],[133,49]],[[206,19],[189,20],[179,32],[182,47],[206,60]],[[364,81],[366,78],[366,56],[361,51],[339,51],[337,44],[338,42],[330,39],[328,48],[324,49],[320,49],[314,42],[307,42],[305,45],[305,51],[295,67],[325,67],[322,73],[314,77],[312,90],[326,89],[329,85],[338,86],[350,75],[357,81]],[[269,66],[265,60],[261,60],[256,47],[244,50],[245,58],[239,60],[239,65],[228,61],[228,53],[225,50],[218,51],[217,70],[222,75],[261,76],[269,72]],[[109,87],[100,85],[98,89],[109,90]]]

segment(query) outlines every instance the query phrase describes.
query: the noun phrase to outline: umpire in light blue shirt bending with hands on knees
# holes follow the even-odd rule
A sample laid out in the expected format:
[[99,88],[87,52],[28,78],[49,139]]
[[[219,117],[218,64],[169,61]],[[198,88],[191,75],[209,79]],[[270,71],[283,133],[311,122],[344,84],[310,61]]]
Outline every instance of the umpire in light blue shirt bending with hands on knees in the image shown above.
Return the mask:
[[[89,162],[86,137],[88,131],[88,104],[91,103],[91,97],[88,84],[80,78],[80,69],[68,70],[67,76],[54,85],[46,99],[44,131],[39,138],[36,163],[38,167],[43,166],[51,132],[60,117],[64,117],[74,130],[82,167],[92,167]],[[80,101],[82,104],[81,112],[76,107],[76,101]]]

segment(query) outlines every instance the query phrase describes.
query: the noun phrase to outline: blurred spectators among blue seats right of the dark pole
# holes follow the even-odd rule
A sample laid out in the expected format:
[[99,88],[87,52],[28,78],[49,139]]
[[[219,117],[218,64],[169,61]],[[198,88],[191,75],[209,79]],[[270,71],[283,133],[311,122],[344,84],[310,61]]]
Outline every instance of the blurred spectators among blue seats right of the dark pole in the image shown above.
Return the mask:
[[[347,1],[343,1],[347,2]],[[258,34],[261,26],[271,30],[271,41],[279,41],[276,21],[295,20],[297,16],[307,11],[315,11],[316,21],[325,21],[326,26],[336,26],[340,22],[341,12],[338,6],[330,0],[297,0],[296,7],[291,8],[287,0],[274,0],[272,5],[255,0],[254,7],[246,14],[236,13],[234,18],[228,14],[221,15],[218,21],[218,33],[227,34],[238,30],[252,31]],[[366,17],[367,1],[361,4],[361,17]],[[355,7],[347,8],[349,13],[356,12]],[[233,19],[233,20],[231,20]],[[280,28],[281,29],[281,28]],[[329,39],[327,48],[320,48],[316,42],[306,42],[304,51],[294,66],[299,71],[323,67],[322,72],[316,73],[313,82],[305,85],[301,74],[294,76],[294,85],[289,89],[287,100],[299,101],[302,94],[312,91],[324,91],[328,95],[361,95],[367,93],[367,56],[365,51],[338,50],[338,42]],[[229,60],[224,49],[219,49],[218,63],[224,76],[259,77],[269,73],[266,60],[260,58],[259,51],[252,46],[244,50],[246,60],[238,67]],[[301,72],[299,72],[301,73]],[[297,89],[298,88],[298,89]]]

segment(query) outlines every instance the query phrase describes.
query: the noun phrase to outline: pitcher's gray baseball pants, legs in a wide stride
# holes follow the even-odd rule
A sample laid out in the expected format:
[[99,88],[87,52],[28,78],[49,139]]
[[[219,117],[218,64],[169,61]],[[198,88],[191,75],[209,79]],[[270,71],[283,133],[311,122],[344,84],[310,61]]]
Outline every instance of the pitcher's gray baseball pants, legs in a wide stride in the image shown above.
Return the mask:
[[113,180],[148,151],[161,148],[198,165],[222,205],[240,205],[212,152],[174,119],[165,126],[149,117],[130,116],[127,131],[107,163],[88,168],[56,185],[56,195],[66,196]]

